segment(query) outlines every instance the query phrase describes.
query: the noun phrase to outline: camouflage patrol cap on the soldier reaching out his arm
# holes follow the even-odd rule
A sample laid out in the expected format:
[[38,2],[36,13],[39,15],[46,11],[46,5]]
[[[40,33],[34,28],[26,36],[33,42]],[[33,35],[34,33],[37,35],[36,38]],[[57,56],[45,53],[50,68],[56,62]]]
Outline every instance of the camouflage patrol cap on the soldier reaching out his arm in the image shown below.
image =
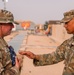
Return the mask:
[[61,20],[62,23],[69,22],[74,18],[74,10],[70,10],[64,13],[64,18]]

